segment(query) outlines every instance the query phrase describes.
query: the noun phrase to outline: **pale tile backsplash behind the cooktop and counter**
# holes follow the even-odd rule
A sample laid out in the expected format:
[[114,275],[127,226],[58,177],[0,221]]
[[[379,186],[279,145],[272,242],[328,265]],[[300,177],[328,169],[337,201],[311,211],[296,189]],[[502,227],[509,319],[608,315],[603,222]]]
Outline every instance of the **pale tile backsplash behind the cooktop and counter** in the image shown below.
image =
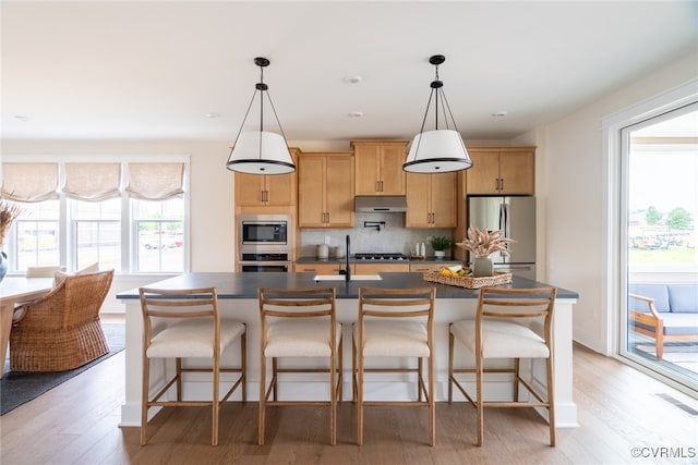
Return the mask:
[[[385,222],[381,231],[365,227],[364,222]],[[352,229],[301,229],[299,256],[314,257],[316,246],[329,237],[330,246],[345,246],[346,236],[351,240],[351,254],[385,253],[410,255],[418,242],[426,244],[426,255],[433,255],[429,240],[434,235],[450,235],[448,229],[406,229],[405,213],[356,213]]]

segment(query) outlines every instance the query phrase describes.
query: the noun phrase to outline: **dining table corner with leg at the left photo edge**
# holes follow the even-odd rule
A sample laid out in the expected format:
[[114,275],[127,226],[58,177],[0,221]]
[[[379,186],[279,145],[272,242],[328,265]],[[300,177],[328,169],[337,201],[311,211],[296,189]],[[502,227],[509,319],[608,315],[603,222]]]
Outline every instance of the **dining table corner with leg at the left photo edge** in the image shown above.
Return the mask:
[[0,282],[0,378],[4,375],[12,317],[17,305],[35,301],[51,292],[53,278],[5,277]]

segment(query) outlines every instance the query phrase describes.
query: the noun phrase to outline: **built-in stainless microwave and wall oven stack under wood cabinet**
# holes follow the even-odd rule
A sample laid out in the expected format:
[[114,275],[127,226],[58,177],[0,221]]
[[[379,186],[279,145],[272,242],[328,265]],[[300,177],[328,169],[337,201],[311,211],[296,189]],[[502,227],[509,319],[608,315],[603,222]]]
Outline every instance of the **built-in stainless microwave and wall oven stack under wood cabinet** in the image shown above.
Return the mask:
[[238,264],[241,272],[291,271],[293,228],[287,215],[238,217]]

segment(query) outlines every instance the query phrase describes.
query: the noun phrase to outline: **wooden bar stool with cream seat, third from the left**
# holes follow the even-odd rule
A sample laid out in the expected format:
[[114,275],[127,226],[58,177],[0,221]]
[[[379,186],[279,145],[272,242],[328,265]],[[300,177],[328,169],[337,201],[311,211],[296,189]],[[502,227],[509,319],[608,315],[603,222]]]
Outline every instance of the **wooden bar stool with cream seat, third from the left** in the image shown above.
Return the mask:
[[[353,326],[353,399],[357,401],[357,443],[363,444],[363,407],[393,405],[429,408],[429,443],[436,437],[434,404],[434,297],[435,287],[359,289],[359,318]],[[425,321],[424,321],[425,320]],[[417,358],[412,368],[365,368],[372,357]],[[429,381],[424,382],[423,360]],[[417,374],[417,400],[364,401],[365,372]],[[422,397],[423,395],[423,397]]]

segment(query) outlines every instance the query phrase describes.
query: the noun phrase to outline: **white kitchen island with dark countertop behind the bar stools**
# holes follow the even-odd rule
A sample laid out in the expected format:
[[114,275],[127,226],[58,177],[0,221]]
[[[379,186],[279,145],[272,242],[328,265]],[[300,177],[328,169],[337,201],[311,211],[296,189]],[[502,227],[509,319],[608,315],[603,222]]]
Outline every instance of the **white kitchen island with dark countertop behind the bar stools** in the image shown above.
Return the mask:
[[[224,317],[236,318],[248,325],[248,399],[255,401],[258,395],[260,367],[260,329],[257,287],[326,287],[337,290],[337,320],[344,323],[344,393],[345,401],[351,400],[351,323],[357,319],[359,287],[436,287],[435,313],[435,347],[434,360],[436,367],[435,399],[445,401],[448,387],[448,323],[458,319],[473,317],[477,306],[477,290],[449,286],[424,281],[419,272],[385,272],[380,280],[362,280],[360,276],[352,277],[351,282],[316,281],[315,273],[188,273],[149,284],[159,289],[184,289],[215,286],[218,292],[220,311]],[[514,277],[510,286],[530,289],[547,284]],[[579,295],[574,291],[558,289],[555,301],[555,317],[553,319],[553,350],[555,378],[555,414],[558,427],[577,426],[577,407],[573,401],[573,367],[571,367],[571,311]],[[125,331],[125,402],[121,408],[121,426],[141,425],[141,384],[142,384],[142,347],[143,320],[137,289],[121,292],[117,295],[127,308]],[[471,355],[459,351],[456,363],[474,366],[468,358]],[[226,358],[238,359],[239,354],[226,354]],[[471,358],[470,358],[471,359]],[[158,360],[155,360],[158,362]],[[309,360],[303,360],[309,363]],[[313,360],[310,360],[312,363]],[[165,371],[169,369],[165,364],[153,364],[153,389],[165,379]],[[528,366],[528,376],[534,388],[544,382],[544,365],[535,363]],[[524,370],[522,370],[524,371]],[[159,374],[159,376],[158,376]],[[395,378],[382,378],[366,383],[366,392],[375,393],[376,399],[386,396],[406,399],[413,392],[413,383],[407,382],[404,374],[394,374]],[[466,386],[473,388],[473,381],[467,377]],[[210,389],[202,378],[191,378],[184,382],[184,392],[189,396],[210,395]],[[322,378],[316,381],[291,380],[284,384],[285,396],[313,395],[322,399],[326,396],[326,384]],[[493,378],[485,382],[484,395],[489,399],[510,396],[510,384],[502,378]],[[239,400],[239,392],[231,400]],[[461,397],[455,397],[462,401]]]

